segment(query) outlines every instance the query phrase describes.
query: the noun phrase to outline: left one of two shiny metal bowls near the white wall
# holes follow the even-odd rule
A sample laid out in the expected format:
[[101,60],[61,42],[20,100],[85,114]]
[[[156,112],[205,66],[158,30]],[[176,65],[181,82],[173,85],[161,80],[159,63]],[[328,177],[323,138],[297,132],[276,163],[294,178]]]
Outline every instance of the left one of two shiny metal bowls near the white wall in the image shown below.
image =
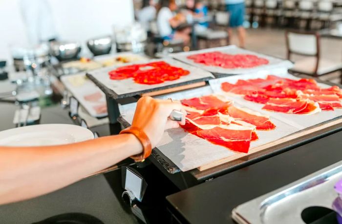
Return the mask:
[[51,42],[50,54],[58,60],[76,59],[81,52],[81,45],[78,42]]

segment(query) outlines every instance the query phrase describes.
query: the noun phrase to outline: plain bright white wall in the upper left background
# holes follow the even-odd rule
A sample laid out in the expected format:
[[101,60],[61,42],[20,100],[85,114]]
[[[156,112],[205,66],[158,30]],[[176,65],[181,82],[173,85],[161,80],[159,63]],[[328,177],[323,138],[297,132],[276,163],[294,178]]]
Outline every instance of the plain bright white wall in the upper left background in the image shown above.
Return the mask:
[[[48,0],[59,38],[82,43],[112,34],[113,26],[134,21],[132,0]],[[10,60],[10,46],[28,46],[19,0],[0,0],[0,58]]]

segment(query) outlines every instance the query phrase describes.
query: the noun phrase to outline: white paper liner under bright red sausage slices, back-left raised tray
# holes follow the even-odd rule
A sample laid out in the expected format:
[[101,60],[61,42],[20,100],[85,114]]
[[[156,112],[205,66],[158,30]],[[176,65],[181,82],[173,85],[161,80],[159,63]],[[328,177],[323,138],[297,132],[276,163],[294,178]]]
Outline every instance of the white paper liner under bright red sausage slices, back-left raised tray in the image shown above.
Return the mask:
[[[200,79],[200,78],[208,78],[208,77],[214,78],[214,76],[207,71],[201,70],[201,69],[196,68],[196,67],[189,66],[187,64],[173,60],[171,58],[150,60],[149,62],[152,62],[152,61],[165,61],[166,63],[168,63],[172,66],[181,67],[183,69],[189,70],[190,74],[185,75],[185,76],[181,76],[177,80],[166,81],[166,82],[156,84],[156,85],[138,84],[138,83],[135,83],[132,78],[123,79],[123,80],[112,80],[109,78],[109,75],[108,75],[109,71],[112,71],[112,70],[114,70],[118,67],[121,67],[121,66],[126,66],[126,65],[130,65],[130,64],[137,64],[140,62],[127,63],[125,65],[120,65],[120,66],[109,66],[106,68],[93,70],[93,71],[89,72],[89,74],[93,75],[98,81],[100,81],[108,89],[114,91],[118,95],[135,93],[135,92],[150,90],[150,89],[154,89],[154,88],[158,88],[158,87],[166,87],[166,86],[173,85],[176,83],[192,81],[192,80],[196,80],[196,79]],[[142,62],[142,63],[145,63],[145,62]]]

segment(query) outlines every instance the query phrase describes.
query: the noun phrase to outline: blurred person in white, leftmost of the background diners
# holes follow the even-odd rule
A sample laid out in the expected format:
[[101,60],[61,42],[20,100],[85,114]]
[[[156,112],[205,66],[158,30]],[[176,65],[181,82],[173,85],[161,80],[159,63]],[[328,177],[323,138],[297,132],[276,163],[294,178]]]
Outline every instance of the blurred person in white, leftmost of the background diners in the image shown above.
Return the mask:
[[137,19],[147,30],[150,30],[150,22],[156,19],[158,0],[144,0],[143,7],[137,13]]

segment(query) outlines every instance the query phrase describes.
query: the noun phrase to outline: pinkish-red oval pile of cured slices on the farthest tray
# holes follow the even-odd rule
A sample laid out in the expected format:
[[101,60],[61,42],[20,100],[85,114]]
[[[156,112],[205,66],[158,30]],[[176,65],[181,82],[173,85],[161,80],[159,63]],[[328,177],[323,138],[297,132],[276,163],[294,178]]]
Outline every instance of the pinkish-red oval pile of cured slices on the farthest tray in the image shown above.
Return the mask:
[[255,55],[229,55],[222,52],[196,54],[188,56],[187,58],[193,60],[195,63],[226,69],[254,68],[256,66],[267,65],[269,63],[267,59]]

